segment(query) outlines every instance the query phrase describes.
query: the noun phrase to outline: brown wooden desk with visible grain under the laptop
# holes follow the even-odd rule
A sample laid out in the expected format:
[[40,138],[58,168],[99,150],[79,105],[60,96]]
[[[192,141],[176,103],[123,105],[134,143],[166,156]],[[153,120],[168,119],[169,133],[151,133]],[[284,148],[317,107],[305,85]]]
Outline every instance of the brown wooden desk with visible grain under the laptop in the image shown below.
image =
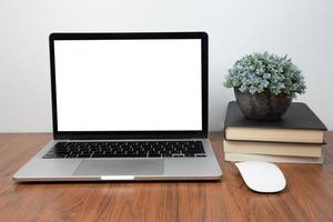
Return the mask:
[[333,221],[333,133],[325,163],[279,164],[280,194],[248,190],[223,161],[222,133],[211,141],[223,179],[218,182],[104,182],[17,184],[13,172],[51,134],[0,134],[0,221]]

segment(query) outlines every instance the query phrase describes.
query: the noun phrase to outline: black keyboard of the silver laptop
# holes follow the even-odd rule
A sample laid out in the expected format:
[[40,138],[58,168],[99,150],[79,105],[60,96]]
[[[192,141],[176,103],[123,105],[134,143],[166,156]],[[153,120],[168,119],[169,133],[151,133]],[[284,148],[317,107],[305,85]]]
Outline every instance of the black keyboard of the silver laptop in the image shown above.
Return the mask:
[[204,158],[201,141],[58,142],[43,159]]

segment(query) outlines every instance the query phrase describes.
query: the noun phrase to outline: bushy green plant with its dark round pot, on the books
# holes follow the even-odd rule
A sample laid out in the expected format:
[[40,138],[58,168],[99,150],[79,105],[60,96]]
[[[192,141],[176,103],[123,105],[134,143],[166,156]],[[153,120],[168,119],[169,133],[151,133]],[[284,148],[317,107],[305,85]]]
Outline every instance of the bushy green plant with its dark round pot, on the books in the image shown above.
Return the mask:
[[238,60],[229,70],[224,87],[233,88],[243,114],[255,120],[278,120],[296,94],[305,92],[301,70],[290,58],[269,52]]

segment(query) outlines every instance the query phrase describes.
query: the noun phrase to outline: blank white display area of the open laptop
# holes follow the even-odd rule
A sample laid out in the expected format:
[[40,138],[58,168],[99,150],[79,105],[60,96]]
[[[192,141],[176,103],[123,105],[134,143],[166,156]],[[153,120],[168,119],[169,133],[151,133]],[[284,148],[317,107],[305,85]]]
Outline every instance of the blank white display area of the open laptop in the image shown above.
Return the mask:
[[59,131],[202,130],[201,40],[56,40]]

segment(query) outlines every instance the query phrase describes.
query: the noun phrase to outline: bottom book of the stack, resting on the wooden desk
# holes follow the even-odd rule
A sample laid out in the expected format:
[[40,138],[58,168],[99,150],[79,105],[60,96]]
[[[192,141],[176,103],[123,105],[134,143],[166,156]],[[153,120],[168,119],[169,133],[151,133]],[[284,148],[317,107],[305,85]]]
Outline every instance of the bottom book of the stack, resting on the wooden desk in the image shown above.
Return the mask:
[[266,161],[276,163],[323,163],[324,155],[320,158],[303,157],[284,157],[284,155],[264,155],[264,154],[243,154],[243,153],[224,153],[226,161]]

